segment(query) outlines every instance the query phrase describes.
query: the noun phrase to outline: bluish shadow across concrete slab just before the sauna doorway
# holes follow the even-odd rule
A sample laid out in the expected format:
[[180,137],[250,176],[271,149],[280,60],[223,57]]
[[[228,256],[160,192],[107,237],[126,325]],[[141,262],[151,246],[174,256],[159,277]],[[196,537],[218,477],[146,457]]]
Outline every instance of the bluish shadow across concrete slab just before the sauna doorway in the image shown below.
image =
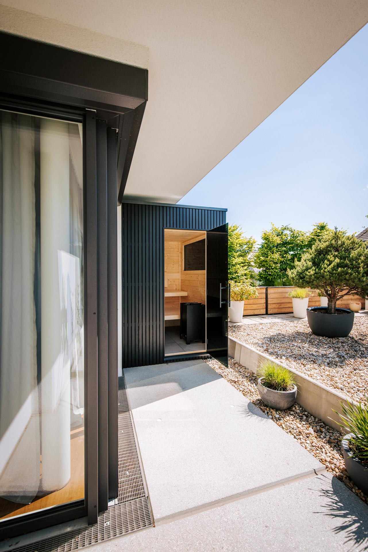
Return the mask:
[[184,360],[124,369],[132,409],[221,379],[203,360]]

